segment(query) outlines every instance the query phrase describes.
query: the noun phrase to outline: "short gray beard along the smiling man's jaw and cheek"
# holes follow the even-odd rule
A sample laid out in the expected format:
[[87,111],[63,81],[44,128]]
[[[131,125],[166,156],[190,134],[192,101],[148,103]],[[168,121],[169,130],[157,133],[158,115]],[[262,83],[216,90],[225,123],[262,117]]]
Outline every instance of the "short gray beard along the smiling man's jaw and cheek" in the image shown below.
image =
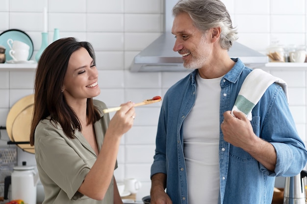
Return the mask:
[[187,69],[198,69],[202,68],[205,64],[205,61],[207,60],[207,43],[205,41],[205,35],[202,36],[200,45],[198,46],[197,53],[193,52],[193,54],[190,52],[190,61],[184,62],[183,61],[183,67]]

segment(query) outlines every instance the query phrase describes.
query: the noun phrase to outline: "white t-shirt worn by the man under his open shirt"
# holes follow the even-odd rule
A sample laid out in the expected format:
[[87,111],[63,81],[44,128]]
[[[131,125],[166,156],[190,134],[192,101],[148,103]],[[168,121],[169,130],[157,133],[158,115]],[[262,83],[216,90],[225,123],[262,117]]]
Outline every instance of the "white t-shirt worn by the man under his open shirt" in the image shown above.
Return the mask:
[[218,203],[221,79],[196,75],[195,105],[183,122],[189,204]]

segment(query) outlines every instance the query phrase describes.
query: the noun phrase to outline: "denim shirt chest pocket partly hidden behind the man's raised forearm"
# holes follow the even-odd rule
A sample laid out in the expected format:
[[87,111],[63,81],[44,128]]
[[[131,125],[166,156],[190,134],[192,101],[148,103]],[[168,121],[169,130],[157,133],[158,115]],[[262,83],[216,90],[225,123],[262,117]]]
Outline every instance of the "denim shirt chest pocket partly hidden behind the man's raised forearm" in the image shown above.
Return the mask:
[[[259,136],[260,132],[260,117],[259,116],[253,116],[251,125],[253,127],[254,133],[256,136]],[[248,162],[255,160],[249,153],[244,151],[242,148],[235,147],[233,145],[230,145],[230,152],[229,155],[232,159],[235,159],[237,161],[243,161]]]

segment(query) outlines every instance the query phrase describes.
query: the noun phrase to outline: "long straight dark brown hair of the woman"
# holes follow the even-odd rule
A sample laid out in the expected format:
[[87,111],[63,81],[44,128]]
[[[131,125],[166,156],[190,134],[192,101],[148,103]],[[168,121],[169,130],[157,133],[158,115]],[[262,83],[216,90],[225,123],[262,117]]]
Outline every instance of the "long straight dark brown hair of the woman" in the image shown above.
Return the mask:
[[[34,83],[34,110],[30,130],[30,145],[34,145],[34,133],[38,123],[50,116],[51,121],[61,125],[66,136],[75,138],[75,130],[82,127],[75,112],[65,101],[61,91],[68,62],[73,52],[84,47],[93,58],[95,53],[88,42],[78,42],[75,38],[62,38],[49,45],[38,62]],[[87,99],[88,124],[95,123],[100,118],[93,105],[93,99]]]

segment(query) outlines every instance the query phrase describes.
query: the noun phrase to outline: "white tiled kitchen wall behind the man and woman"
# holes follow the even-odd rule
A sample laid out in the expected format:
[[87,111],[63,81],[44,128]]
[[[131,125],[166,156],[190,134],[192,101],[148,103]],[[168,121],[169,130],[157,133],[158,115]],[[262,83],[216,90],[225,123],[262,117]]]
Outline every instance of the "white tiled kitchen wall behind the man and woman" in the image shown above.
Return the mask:
[[[282,45],[306,45],[305,0],[223,1],[238,28],[238,42],[262,53],[274,37]],[[60,37],[76,37],[93,44],[102,90],[97,99],[109,107],[155,95],[163,98],[165,91],[188,73],[128,71],[133,57],[163,32],[164,0],[1,0],[0,32],[25,31],[34,44],[32,59],[41,45],[44,7],[48,8],[49,43],[53,29],[59,28]],[[290,108],[306,142],[306,70],[267,70],[288,83]],[[0,71],[0,126],[5,126],[10,107],[33,93],[34,75],[34,71]],[[150,193],[150,166],[160,106],[156,103],[136,108],[135,124],[120,145],[115,176],[118,181],[142,181],[137,200]],[[0,145],[6,144],[5,131],[1,135]],[[34,155],[19,151],[19,165],[23,160],[35,165]]]

